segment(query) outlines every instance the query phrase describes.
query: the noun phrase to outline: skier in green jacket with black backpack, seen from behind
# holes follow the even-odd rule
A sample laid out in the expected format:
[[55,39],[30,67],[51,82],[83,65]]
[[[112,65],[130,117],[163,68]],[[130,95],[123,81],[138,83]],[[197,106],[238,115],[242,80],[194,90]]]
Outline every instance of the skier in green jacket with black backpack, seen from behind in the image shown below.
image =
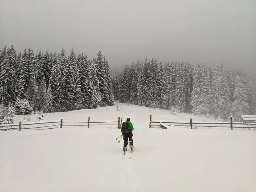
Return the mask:
[[126,153],[127,151],[127,145],[128,145],[128,139],[129,139],[129,145],[130,148],[134,149],[133,146],[133,124],[130,122],[130,118],[128,117],[125,122],[122,123],[121,132],[123,134],[123,151]]

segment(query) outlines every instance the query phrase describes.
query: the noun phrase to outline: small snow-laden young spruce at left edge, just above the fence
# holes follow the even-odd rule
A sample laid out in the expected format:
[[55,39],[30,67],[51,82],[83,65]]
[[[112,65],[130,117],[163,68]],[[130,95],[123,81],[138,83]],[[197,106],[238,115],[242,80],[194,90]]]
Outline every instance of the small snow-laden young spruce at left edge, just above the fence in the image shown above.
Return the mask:
[[14,123],[15,111],[12,105],[6,107],[1,104],[0,106],[0,124],[12,124]]

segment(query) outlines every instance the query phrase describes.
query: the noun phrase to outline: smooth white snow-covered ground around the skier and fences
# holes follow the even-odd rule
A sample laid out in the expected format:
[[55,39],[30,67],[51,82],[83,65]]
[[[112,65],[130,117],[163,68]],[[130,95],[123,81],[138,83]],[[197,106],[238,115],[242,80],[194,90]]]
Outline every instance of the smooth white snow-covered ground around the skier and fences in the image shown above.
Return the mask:
[[[116,104],[117,105],[117,104]],[[118,103],[45,114],[45,120],[117,120],[134,125],[133,154],[122,153],[119,129],[67,127],[0,132],[1,192],[255,192],[256,131],[149,129],[154,119],[189,121],[191,114]],[[31,115],[36,121],[37,115]],[[23,116],[16,116],[15,122]],[[192,116],[195,121],[209,121]],[[132,158],[130,159],[130,156]]]

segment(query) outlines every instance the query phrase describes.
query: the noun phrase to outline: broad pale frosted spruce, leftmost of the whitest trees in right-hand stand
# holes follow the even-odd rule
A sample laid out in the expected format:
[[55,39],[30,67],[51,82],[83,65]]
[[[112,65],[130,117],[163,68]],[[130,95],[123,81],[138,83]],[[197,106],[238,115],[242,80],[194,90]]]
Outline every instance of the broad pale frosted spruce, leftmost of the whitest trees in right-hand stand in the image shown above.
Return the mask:
[[197,64],[193,71],[193,90],[191,96],[192,113],[194,115],[206,115],[209,112],[209,87],[203,66]]

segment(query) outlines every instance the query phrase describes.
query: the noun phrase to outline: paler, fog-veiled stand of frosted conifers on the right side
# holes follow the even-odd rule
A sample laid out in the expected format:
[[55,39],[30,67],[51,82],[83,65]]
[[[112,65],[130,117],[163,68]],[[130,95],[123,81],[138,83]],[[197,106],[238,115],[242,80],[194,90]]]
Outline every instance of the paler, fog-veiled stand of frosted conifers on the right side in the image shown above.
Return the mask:
[[256,114],[256,87],[250,76],[223,64],[158,63],[138,60],[112,77],[114,97],[120,102],[163,108],[228,120],[232,115]]

